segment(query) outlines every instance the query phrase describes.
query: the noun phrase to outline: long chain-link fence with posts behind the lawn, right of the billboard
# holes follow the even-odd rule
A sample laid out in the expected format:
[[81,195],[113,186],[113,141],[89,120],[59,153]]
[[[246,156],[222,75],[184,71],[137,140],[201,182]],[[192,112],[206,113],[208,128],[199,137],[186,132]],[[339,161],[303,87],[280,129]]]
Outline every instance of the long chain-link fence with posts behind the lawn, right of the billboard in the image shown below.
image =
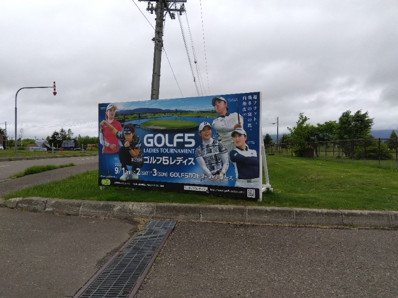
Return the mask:
[[398,137],[393,139],[352,139],[303,144],[280,143],[265,146],[267,154],[351,162],[398,170]]

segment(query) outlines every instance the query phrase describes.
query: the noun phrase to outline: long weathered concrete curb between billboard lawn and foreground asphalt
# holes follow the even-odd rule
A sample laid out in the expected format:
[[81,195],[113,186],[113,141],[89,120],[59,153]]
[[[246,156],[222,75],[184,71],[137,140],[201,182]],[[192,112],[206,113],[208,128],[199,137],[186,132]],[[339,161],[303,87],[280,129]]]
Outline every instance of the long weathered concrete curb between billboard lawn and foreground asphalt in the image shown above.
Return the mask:
[[100,202],[52,198],[0,199],[0,207],[73,216],[246,224],[398,227],[398,212],[224,205]]

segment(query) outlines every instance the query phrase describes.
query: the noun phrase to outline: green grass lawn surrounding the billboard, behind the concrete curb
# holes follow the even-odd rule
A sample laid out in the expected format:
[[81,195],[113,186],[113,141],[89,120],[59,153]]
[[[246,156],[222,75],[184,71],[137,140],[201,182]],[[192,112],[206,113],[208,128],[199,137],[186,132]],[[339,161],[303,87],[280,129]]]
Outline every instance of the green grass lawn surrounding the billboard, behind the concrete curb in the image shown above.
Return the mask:
[[98,171],[72,176],[62,180],[62,183],[51,182],[20,190],[5,199],[37,196],[123,202],[398,211],[398,171],[395,169],[283,155],[267,155],[267,166],[274,192],[263,193],[262,202],[118,187],[100,190]]

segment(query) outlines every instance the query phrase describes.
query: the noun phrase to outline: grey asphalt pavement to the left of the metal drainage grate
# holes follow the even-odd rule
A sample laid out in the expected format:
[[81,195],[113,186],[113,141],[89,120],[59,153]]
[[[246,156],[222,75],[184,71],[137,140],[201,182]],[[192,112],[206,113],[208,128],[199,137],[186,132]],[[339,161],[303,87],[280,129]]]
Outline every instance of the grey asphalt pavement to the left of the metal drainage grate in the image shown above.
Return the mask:
[[132,221],[0,208],[0,298],[73,297],[135,228]]

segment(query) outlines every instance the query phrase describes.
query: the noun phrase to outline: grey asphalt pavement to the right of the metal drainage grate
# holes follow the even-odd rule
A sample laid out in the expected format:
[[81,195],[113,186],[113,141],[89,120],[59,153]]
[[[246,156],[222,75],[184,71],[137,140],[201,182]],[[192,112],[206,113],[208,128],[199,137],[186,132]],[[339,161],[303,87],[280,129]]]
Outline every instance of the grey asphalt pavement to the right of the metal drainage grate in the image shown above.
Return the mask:
[[136,298],[397,298],[398,230],[179,222]]

